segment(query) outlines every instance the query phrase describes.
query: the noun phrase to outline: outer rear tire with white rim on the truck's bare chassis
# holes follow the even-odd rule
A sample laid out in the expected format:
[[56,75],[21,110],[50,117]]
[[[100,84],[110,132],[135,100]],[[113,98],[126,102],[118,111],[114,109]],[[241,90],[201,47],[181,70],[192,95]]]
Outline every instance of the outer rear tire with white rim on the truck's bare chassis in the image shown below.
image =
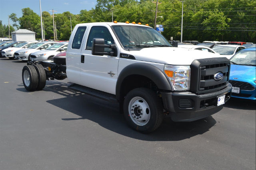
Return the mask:
[[38,86],[38,74],[35,67],[32,65],[25,65],[22,69],[22,81],[24,87],[28,91],[36,90]]

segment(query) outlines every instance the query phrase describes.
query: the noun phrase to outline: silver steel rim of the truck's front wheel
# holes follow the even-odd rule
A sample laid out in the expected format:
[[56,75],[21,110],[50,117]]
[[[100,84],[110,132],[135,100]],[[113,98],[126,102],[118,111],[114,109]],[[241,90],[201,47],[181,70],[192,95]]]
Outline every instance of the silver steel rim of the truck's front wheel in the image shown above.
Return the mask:
[[134,97],[128,105],[129,116],[139,126],[144,126],[150,119],[150,108],[142,97]]

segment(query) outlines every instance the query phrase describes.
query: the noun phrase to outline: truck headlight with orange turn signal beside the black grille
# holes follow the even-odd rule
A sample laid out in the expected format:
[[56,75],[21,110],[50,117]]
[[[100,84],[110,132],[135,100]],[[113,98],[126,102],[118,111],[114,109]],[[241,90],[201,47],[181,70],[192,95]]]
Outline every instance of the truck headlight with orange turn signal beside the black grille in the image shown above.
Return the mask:
[[164,73],[166,73],[166,75],[169,77],[174,90],[189,90],[189,65],[164,65]]

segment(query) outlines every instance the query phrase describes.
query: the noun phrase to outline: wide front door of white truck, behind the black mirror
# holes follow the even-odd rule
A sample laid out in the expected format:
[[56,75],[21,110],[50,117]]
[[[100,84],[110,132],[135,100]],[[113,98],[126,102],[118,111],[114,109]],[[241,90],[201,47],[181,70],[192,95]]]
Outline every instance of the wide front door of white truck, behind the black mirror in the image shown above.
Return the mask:
[[[80,61],[81,85],[116,94],[119,51],[117,57],[92,55],[92,40],[94,38],[104,38],[105,44],[115,44],[114,34],[110,31],[109,26],[108,28],[106,26],[92,26],[90,32],[88,31],[86,34],[88,38],[82,49]],[[105,48],[105,51],[110,50],[112,49]]]

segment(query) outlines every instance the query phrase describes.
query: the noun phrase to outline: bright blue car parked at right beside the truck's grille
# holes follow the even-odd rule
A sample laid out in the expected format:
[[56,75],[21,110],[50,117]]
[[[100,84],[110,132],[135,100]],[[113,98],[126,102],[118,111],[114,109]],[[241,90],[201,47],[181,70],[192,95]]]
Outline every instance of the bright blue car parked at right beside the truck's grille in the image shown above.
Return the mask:
[[239,51],[230,59],[230,62],[231,96],[256,100],[256,48]]

